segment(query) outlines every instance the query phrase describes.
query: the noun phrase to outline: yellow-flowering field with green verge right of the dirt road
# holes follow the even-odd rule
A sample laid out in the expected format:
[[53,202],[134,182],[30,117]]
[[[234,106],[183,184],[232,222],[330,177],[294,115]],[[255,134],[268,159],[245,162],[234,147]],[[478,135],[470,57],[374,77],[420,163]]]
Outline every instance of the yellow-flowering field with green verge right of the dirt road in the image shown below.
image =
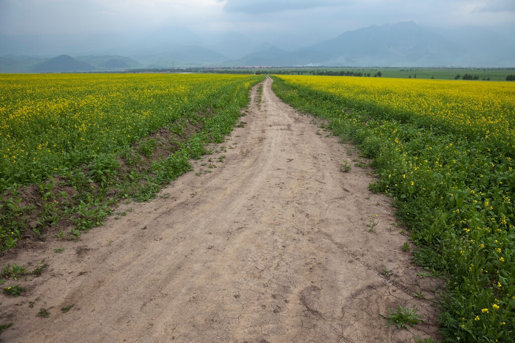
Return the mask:
[[513,341],[515,84],[277,76],[273,89],[371,159],[414,261],[446,281],[445,339]]

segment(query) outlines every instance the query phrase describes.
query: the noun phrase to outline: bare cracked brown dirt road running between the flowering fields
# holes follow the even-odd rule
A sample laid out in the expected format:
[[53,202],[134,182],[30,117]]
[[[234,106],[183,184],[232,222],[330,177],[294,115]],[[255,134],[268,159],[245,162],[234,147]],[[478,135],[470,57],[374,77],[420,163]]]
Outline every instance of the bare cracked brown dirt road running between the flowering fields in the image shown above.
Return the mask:
[[[205,166],[197,161],[157,200],[119,206],[127,215],[113,216],[77,243],[50,242],[16,256],[19,263],[45,257],[49,267],[31,281],[28,296],[15,298],[21,305],[5,303],[17,314],[1,337],[409,342],[434,336],[435,309],[413,293],[431,298],[436,283],[416,277],[388,198],[368,191],[370,169],[355,167],[355,155],[336,137],[317,134],[312,117],[282,103],[271,82],[264,82],[262,103],[254,87],[245,127],[214,147],[226,152],[207,156]],[[345,160],[349,173],[339,170]],[[371,232],[370,220],[377,223]],[[66,250],[56,254],[60,246]],[[392,276],[382,275],[384,266]],[[70,304],[69,312],[60,311]],[[386,329],[379,314],[398,305],[417,306],[425,323]],[[41,307],[48,318],[36,317]]]

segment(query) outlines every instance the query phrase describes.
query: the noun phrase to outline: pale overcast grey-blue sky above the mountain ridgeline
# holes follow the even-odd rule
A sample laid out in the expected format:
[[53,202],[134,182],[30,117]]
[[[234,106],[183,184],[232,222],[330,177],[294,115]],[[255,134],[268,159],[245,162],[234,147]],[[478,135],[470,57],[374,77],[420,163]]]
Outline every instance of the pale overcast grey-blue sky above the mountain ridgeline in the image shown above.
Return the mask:
[[0,0],[0,33],[151,31],[185,26],[264,38],[320,35],[400,21],[515,34],[515,0]]

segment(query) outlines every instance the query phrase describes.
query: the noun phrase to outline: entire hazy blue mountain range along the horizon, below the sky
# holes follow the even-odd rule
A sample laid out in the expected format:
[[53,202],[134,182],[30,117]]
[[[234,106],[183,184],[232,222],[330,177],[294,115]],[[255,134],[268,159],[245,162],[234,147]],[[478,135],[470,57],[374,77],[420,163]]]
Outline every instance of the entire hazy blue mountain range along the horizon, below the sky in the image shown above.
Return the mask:
[[200,37],[186,28],[131,38],[79,38],[0,34],[0,73],[172,66],[515,66],[514,38],[486,29],[431,29],[414,22],[347,31],[295,50],[287,42],[256,42],[237,32]]

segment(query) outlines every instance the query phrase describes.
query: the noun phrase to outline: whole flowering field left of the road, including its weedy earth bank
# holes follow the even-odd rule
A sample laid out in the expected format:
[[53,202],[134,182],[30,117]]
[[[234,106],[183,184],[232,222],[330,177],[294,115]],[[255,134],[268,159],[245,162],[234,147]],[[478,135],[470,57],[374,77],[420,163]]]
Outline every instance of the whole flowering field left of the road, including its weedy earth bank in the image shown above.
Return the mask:
[[0,251],[27,228],[44,239],[64,218],[78,237],[117,199],[148,199],[224,139],[262,79],[2,75]]

